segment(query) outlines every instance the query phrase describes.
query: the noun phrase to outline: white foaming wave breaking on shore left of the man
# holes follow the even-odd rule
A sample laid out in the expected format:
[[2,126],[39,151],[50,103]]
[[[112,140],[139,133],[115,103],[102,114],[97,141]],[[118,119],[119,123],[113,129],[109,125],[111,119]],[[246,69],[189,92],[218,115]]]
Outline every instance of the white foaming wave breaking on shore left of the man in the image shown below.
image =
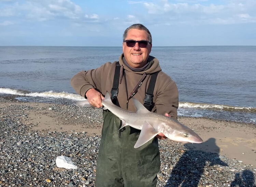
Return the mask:
[[82,96],[77,94],[70,94],[68,92],[53,92],[53,91],[45,91],[45,92],[28,92],[25,90],[17,90],[10,88],[0,88],[0,94],[11,94],[11,95],[19,95],[19,96],[31,96],[31,97],[45,97],[45,98],[65,98],[71,100],[84,100]]

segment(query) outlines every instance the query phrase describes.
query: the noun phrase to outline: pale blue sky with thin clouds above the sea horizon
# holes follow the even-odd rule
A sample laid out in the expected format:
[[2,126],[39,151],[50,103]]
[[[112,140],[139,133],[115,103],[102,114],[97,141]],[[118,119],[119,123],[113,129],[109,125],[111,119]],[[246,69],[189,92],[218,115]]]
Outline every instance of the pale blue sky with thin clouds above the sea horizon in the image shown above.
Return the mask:
[[121,46],[133,23],[153,46],[256,45],[256,0],[0,0],[0,46]]

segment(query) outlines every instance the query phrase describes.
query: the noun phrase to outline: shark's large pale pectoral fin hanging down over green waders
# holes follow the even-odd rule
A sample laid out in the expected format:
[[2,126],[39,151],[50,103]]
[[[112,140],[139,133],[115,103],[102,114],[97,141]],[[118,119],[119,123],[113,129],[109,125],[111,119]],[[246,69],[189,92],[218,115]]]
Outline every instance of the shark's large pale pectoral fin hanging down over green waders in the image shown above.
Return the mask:
[[134,145],[134,148],[142,146],[147,141],[154,138],[159,132],[157,132],[150,123],[145,123],[142,126],[140,136]]

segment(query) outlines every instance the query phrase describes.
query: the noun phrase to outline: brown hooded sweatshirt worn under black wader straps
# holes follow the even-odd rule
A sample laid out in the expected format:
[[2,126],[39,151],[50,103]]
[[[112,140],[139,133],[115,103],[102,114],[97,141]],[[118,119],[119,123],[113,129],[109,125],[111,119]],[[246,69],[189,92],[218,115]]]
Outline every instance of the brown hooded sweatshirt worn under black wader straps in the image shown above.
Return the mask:
[[[159,61],[155,57],[149,56],[148,59],[151,61],[150,64],[152,64],[151,67],[149,69],[146,69],[145,71],[135,72],[124,64],[122,60],[123,57],[124,54],[119,57],[119,64],[121,65],[121,67],[123,66],[125,71],[128,95],[131,93],[134,87],[136,87],[139,80],[145,73],[146,77],[144,81],[139,87],[137,93],[133,96],[141,103],[143,103],[145,93],[150,82],[151,74],[160,71],[157,75],[156,84],[153,92],[153,102],[155,103],[155,106],[152,109],[152,112],[156,111],[158,114],[162,115],[168,113],[172,118],[177,119],[177,108],[179,105],[177,86],[167,74],[161,71]],[[113,86],[115,65],[116,62],[108,62],[97,69],[81,71],[74,75],[74,77],[71,79],[71,85],[74,90],[83,97],[85,97],[86,91],[90,88],[98,89],[103,95],[105,95],[106,91],[110,93]],[[117,99],[120,107],[126,109],[127,93],[124,78],[120,78],[120,82],[118,86]],[[136,108],[133,105],[132,100],[129,100],[128,102],[128,111],[136,112]]]

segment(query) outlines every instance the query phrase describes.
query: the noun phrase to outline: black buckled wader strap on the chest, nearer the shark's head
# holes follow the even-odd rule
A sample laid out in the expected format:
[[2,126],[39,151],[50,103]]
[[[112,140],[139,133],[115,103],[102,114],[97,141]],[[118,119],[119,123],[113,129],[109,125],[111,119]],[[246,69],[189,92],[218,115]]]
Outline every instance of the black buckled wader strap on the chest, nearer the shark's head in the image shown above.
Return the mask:
[[148,88],[147,88],[147,92],[146,92],[146,95],[145,95],[145,98],[144,98],[144,102],[143,102],[143,105],[146,107],[146,109],[148,109],[149,111],[152,110],[152,108],[154,107],[154,102],[153,102],[153,91],[154,91],[154,88],[155,88],[155,84],[156,84],[156,78],[157,78],[157,74],[159,73],[158,72],[155,72],[151,75],[151,78],[150,78],[150,83],[148,85]]

